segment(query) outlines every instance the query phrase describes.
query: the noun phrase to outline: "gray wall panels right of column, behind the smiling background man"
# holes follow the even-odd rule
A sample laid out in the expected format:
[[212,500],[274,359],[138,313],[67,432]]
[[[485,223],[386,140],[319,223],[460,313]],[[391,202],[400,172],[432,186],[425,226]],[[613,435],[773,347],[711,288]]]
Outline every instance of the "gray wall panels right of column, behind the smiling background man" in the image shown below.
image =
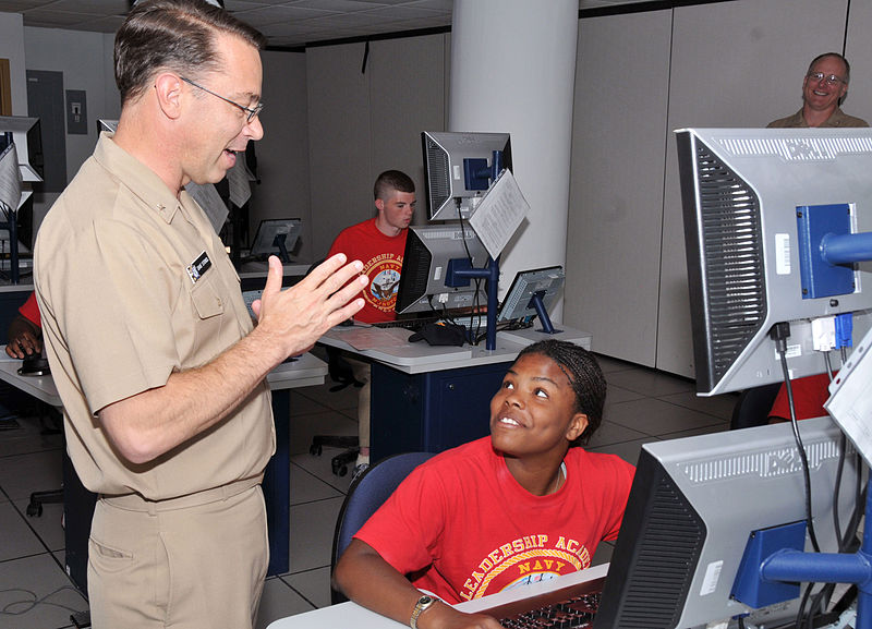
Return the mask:
[[846,110],[869,118],[865,4],[737,0],[580,21],[565,319],[597,352],[693,375],[674,131],[792,113],[808,63],[841,50],[846,22],[858,51]]

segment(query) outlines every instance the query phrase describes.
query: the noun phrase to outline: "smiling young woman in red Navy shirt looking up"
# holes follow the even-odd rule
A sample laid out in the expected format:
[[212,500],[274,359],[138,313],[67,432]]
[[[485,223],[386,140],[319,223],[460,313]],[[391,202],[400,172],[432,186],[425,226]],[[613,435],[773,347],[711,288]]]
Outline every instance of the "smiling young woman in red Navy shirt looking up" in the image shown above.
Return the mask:
[[450,604],[590,567],[618,536],[635,471],[581,447],[605,397],[583,348],[525,348],[491,400],[491,436],[414,470],[356,533],[334,585],[413,628],[497,629]]

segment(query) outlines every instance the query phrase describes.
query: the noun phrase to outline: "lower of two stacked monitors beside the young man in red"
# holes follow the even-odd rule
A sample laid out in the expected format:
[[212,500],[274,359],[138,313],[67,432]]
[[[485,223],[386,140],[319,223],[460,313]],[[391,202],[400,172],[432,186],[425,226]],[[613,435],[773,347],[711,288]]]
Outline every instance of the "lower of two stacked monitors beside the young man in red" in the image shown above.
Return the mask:
[[487,259],[487,251],[469,225],[410,227],[397,292],[397,314],[443,313],[486,304],[484,282],[458,278],[455,273],[484,268]]

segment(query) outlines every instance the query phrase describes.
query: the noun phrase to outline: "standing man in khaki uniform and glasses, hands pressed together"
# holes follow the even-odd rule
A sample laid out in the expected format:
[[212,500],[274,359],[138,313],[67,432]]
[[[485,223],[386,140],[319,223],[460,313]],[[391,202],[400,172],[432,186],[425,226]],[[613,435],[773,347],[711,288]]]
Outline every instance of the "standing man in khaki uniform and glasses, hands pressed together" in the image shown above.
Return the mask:
[[35,280],[70,457],[100,500],[88,549],[95,629],[250,628],[268,563],[259,483],[275,449],[265,376],[363,306],[335,256],[256,327],[184,191],[263,136],[259,33],[203,0],[145,0],[116,36],[114,135],[49,211]]

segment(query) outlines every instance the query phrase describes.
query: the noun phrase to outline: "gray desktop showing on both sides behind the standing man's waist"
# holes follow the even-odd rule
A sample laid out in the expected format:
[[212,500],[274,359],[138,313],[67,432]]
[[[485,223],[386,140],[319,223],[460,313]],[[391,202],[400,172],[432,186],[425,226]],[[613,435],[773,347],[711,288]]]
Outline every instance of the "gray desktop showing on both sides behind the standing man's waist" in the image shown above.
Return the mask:
[[[5,346],[0,346],[0,380],[29,394],[52,407],[61,408],[61,398],[51,376],[19,375],[21,361],[11,359]],[[266,377],[269,388],[274,390],[308,387],[324,384],[327,375],[327,363],[310,353],[288,363],[281,363]]]

